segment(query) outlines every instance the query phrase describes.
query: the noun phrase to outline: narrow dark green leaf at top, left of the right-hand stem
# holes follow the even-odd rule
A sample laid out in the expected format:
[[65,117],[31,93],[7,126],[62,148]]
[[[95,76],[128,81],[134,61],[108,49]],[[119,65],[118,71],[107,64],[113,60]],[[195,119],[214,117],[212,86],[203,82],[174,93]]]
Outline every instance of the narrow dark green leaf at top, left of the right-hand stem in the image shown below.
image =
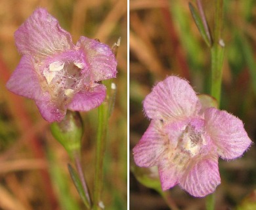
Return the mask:
[[195,9],[195,7],[192,5],[192,3],[189,3],[189,9],[190,9],[192,17],[196,23],[196,26],[198,27],[198,30],[200,31],[200,33],[203,37],[203,40],[205,41],[205,43],[208,47],[211,47],[211,37],[209,37],[207,35],[207,32],[205,30],[205,27],[203,26],[203,21],[202,21],[200,14]]

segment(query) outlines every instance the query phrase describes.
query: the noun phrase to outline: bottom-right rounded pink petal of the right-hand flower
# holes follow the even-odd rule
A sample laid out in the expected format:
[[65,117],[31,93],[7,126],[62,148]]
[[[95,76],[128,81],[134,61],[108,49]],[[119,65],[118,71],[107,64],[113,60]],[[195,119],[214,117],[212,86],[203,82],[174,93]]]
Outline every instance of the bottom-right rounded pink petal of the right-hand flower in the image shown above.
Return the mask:
[[198,160],[191,159],[180,180],[181,187],[195,197],[211,194],[219,184],[221,178],[217,155],[208,155]]

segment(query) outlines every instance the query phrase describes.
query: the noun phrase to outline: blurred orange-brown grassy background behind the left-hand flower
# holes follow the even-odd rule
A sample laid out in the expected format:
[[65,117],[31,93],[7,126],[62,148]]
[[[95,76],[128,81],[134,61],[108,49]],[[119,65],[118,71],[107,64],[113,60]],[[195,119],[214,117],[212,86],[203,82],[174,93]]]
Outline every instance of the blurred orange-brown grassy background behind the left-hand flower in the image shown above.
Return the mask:
[[[106,209],[127,209],[127,1],[1,0],[0,1],[0,209],[83,209],[69,177],[70,159],[54,140],[49,123],[35,103],[7,91],[16,68],[13,33],[37,7],[46,8],[72,34],[98,38],[110,47],[121,37],[117,53],[116,106],[108,132],[102,201]],[[83,168],[93,187],[97,110],[82,113]]]

